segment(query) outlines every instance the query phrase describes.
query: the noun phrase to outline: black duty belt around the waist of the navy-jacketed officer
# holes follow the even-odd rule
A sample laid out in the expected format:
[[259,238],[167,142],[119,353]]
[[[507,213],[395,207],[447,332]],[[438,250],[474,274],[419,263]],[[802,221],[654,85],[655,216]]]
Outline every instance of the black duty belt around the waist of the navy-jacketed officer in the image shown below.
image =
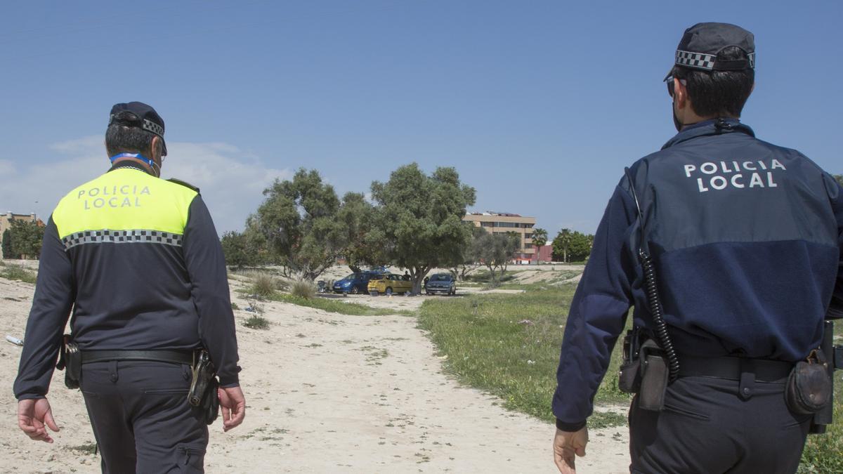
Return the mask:
[[758,382],[784,383],[793,366],[792,362],[765,358],[679,356],[679,375],[683,377],[741,380],[742,374],[754,374]]

